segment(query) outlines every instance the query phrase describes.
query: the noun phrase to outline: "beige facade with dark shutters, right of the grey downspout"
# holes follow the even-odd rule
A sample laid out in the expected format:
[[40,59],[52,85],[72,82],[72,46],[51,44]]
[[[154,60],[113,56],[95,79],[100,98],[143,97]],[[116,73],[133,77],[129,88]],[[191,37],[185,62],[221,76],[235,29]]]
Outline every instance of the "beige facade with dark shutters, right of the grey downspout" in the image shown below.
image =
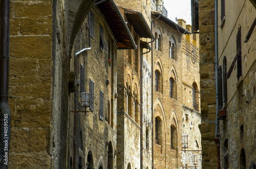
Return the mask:
[[218,3],[220,167],[255,168],[256,10],[249,1]]

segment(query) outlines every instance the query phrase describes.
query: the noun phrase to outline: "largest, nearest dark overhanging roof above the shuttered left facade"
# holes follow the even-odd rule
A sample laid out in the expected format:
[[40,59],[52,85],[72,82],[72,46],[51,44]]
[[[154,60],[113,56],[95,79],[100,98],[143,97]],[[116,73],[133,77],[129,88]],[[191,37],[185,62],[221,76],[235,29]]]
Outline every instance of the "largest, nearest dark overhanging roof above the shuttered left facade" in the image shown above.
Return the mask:
[[98,0],[97,3],[97,7],[104,15],[106,22],[108,22],[110,29],[117,40],[118,49],[136,49],[137,46],[132,34],[115,2],[113,0],[106,0],[104,2]]

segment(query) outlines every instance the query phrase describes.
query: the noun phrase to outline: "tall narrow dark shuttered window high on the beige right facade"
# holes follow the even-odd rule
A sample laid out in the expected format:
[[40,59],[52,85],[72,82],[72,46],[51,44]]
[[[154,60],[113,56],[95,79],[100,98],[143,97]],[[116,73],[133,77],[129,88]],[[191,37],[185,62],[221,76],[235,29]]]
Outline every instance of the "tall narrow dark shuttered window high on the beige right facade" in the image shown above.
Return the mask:
[[239,79],[240,76],[242,76],[242,48],[241,48],[241,26],[239,27],[238,33],[237,33],[237,67],[238,67],[238,74],[237,77]]

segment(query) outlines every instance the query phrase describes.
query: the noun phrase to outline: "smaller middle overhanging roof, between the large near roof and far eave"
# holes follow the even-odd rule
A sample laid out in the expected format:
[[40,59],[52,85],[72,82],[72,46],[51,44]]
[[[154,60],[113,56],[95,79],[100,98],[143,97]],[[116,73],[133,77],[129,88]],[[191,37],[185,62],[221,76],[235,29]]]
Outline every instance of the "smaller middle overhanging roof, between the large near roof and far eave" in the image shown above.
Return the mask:
[[156,40],[142,13],[130,9],[124,9],[124,14],[128,21],[133,25],[135,32],[141,38],[152,38]]

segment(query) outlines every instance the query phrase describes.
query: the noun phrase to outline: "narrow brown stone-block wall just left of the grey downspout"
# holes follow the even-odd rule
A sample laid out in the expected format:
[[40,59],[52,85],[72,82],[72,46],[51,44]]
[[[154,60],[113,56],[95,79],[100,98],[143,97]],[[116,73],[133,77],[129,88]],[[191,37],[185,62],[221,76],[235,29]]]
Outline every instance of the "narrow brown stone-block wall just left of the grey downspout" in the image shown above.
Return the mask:
[[[202,168],[216,168],[215,2],[199,2]],[[210,37],[211,41],[206,41]]]

